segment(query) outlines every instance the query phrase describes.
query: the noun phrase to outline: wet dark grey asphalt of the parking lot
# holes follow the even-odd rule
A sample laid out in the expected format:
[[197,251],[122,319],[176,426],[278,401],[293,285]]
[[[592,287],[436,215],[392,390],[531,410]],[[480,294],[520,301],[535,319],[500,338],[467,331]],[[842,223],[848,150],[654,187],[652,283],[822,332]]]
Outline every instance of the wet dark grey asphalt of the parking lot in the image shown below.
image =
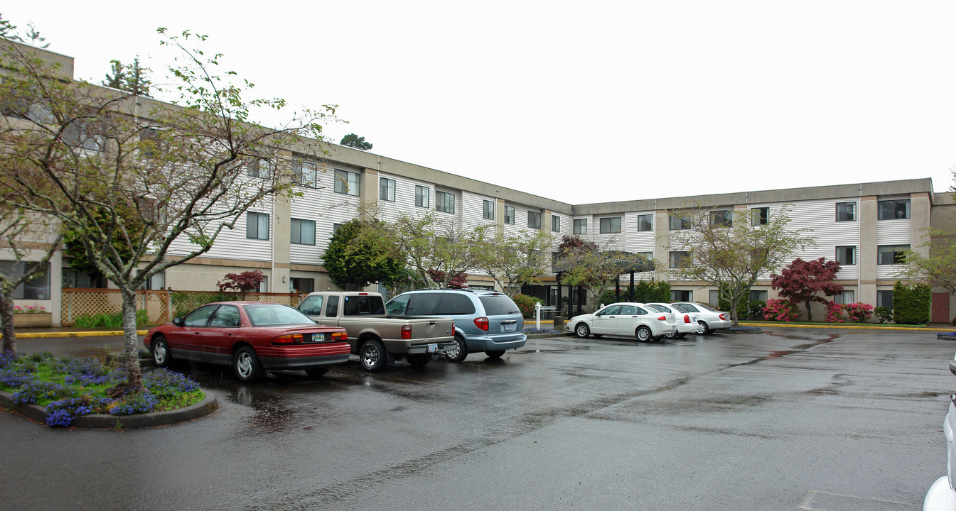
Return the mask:
[[254,385],[185,366],[220,410],[131,431],[0,413],[0,508],[919,510],[945,475],[954,351],[928,331],[765,329],[535,338],[377,374],[353,357]]

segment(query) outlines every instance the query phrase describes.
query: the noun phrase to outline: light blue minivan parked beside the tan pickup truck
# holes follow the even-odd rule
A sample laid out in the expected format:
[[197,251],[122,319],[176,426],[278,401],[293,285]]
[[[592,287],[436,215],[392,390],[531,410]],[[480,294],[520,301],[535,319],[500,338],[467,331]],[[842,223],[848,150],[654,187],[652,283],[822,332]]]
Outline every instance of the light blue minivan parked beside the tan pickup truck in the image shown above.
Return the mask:
[[407,291],[385,304],[389,314],[438,316],[455,320],[456,347],[445,352],[450,362],[468,353],[485,351],[500,358],[525,345],[521,309],[504,293],[484,289],[423,289]]

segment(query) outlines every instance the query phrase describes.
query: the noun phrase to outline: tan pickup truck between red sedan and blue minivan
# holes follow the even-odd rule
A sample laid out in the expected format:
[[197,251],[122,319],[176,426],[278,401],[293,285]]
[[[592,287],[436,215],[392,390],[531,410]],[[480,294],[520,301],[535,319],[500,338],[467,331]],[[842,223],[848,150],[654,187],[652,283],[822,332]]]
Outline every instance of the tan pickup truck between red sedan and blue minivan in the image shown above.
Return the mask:
[[319,325],[348,330],[352,352],[371,372],[402,357],[421,368],[455,348],[454,320],[386,314],[379,293],[319,291],[306,296],[298,309]]

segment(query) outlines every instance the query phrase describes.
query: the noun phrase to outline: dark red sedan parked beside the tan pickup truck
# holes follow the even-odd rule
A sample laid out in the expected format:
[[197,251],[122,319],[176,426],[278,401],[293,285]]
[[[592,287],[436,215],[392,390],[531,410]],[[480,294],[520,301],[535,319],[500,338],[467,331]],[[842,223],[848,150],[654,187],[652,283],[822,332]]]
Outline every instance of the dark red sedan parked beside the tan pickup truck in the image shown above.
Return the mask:
[[320,376],[352,351],[345,329],[316,325],[297,309],[262,302],[206,304],[150,329],[142,344],[160,367],[173,359],[225,364],[242,381],[265,370]]

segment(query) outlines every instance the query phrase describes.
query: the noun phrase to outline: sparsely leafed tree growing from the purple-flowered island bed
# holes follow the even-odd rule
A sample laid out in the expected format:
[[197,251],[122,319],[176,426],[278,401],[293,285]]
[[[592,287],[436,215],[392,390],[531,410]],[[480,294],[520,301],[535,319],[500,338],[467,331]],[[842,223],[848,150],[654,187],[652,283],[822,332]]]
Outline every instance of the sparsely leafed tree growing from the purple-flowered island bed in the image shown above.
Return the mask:
[[[0,189],[15,192],[2,199],[81,233],[87,260],[120,288],[133,389],[141,388],[136,289],[206,253],[253,204],[289,193],[293,173],[279,148],[309,150],[334,113],[307,111],[283,129],[250,124],[253,109],[285,102],[244,99],[251,84],[217,71],[222,55],[198,48],[206,36],[158,32],[180,53],[167,69],[174,85],[154,88],[171,104],[73,81],[34,49],[0,40],[9,70],[0,82]],[[271,172],[250,178],[264,162]],[[185,255],[170,257],[180,239]]]

